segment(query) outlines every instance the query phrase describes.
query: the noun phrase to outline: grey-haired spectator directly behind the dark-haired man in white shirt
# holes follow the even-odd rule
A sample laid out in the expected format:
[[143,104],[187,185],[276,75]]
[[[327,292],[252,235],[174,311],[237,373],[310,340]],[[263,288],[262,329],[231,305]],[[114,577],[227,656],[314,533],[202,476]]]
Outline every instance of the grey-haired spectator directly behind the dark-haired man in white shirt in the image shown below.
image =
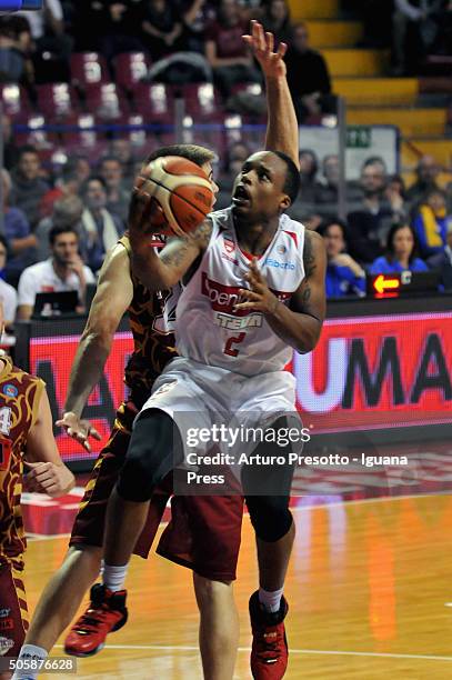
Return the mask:
[[43,218],[37,229],[37,260],[41,262],[51,256],[49,243],[49,233],[54,227],[73,229],[79,234],[79,251],[83,260],[87,260],[86,238],[81,223],[81,216],[84,206],[78,196],[66,196],[57,200],[53,204],[52,212]]

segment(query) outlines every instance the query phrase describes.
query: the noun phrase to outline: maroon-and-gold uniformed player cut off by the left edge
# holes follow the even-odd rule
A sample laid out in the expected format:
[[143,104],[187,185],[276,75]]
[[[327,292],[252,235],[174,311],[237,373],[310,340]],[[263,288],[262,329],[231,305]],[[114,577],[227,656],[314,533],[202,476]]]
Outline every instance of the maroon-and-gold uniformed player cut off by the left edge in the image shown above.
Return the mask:
[[[2,309],[0,306],[0,317]],[[0,326],[2,327],[2,319]],[[23,473],[28,471],[28,474]],[[23,584],[27,548],[20,510],[26,489],[52,498],[68,493],[72,472],[64,466],[52,431],[46,386],[0,354],[0,658],[19,654],[28,629]],[[11,659],[12,662],[12,659]],[[0,672],[0,679],[11,678]]]

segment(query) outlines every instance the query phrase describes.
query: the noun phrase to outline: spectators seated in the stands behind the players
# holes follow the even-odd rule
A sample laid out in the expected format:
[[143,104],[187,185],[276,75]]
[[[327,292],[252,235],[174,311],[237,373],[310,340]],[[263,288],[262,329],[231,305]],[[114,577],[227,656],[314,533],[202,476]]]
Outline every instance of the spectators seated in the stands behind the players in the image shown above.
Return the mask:
[[[310,48],[308,27],[291,23],[285,0],[46,0],[44,4],[43,12],[2,18],[0,81],[20,82],[31,91],[42,82],[67,81],[74,51],[103,53],[112,78],[114,57],[124,51],[144,50],[153,62],[174,51],[190,51],[207,60],[228,98],[235,83],[261,81],[241,39],[255,17],[277,41],[289,44],[288,80],[299,120],[334,111],[327,63]],[[388,40],[388,31],[379,33],[379,12],[389,12],[386,27],[392,21],[398,44],[421,40],[425,49],[443,52],[452,44],[444,37],[450,37],[451,2],[345,0],[344,4],[363,14],[364,43]],[[374,22],[372,13],[378,16]],[[419,66],[410,60],[410,50],[403,51],[403,59],[405,54],[402,63],[394,50],[394,73]],[[180,73],[178,69],[172,78]],[[193,72],[189,69],[184,77],[190,79]],[[0,237],[0,298],[10,326],[16,318],[30,318],[40,290],[77,290],[82,304],[107,250],[127,228],[130,191],[142,160],[134,157],[130,140],[119,137],[109,141],[96,166],[79,153],[56,169],[42,163],[36,148],[17,146],[11,122],[2,117]],[[219,208],[229,204],[233,180],[252,150],[245,141],[229,144],[219,168]],[[304,149],[300,163],[301,193],[291,213],[325,239],[330,297],[363,294],[366,272],[404,269],[433,268],[441,272],[442,287],[452,288],[452,188],[439,187],[440,168],[433,158],[420,159],[418,179],[408,188],[401,177],[388,174],[380,157],[368,158],[359,180],[346,182],[343,220],[337,213],[338,157],[320,161],[314,151]]]

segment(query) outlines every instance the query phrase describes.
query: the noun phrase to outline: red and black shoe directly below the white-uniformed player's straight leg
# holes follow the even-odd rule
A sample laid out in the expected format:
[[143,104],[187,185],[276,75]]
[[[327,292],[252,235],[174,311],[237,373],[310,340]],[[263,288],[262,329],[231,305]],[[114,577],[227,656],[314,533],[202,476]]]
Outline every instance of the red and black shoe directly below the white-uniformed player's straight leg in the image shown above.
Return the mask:
[[259,592],[250,598],[250,618],[253,633],[251,672],[254,680],[280,680],[288,668],[288,641],[284,618],[289,604],[284,598],[280,610],[267,612],[259,602]]

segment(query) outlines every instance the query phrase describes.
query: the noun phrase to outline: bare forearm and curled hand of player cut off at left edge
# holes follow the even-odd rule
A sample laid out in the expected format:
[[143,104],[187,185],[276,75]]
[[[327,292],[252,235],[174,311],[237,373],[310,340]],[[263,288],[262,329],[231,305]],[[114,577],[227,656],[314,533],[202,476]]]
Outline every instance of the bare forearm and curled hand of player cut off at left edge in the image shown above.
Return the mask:
[[30,471],[23,478],[27,491],[64,496],[74,483],[74,477],[60,458],[52,431],[52,413],[46,389],[39,399],[38,418],[27,438],[23,459]]

